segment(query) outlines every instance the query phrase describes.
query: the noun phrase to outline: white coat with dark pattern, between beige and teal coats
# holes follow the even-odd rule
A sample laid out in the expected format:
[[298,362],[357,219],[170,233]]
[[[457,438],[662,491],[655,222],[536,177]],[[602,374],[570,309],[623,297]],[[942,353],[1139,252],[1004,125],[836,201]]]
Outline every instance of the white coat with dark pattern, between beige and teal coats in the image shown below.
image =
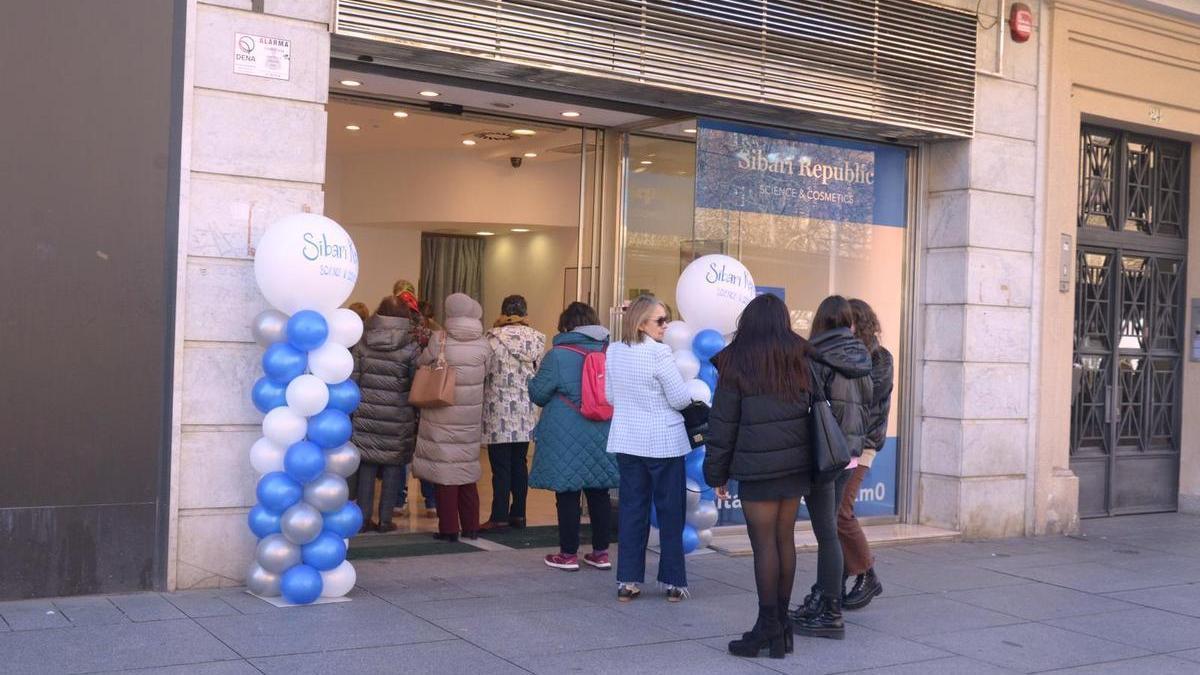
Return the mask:
[[529,441],[538,424],[529,380],[546,352],[546,336],[528,325],[504,325],[487,331],[487,346],[492,366],[484,389],[484,442]]

